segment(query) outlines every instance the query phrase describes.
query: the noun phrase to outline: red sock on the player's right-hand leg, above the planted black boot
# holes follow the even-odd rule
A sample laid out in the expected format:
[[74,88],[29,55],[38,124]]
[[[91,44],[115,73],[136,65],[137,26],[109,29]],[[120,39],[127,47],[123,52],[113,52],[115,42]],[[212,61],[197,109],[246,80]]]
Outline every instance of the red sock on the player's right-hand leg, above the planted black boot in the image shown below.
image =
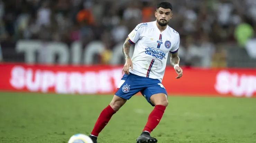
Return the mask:
[[163,105],[155,106],[154,110],[148,116],[148,121],[143,131],[148,131],[150,133],[156,128],[163,117],[165,108],[166,107]]

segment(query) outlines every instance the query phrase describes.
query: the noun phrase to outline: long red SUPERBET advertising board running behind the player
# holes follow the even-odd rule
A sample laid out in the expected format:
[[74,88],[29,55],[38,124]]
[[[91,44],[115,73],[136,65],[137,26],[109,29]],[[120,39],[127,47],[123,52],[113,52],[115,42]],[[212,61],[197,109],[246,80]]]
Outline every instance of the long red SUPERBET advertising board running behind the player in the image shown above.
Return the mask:
[[[46,66],[0,64],[0,90],[57,94],[113,94],[122,66]],[[256,97],[256,69],[183,68],[176,79],[166,67],[168,95]]]

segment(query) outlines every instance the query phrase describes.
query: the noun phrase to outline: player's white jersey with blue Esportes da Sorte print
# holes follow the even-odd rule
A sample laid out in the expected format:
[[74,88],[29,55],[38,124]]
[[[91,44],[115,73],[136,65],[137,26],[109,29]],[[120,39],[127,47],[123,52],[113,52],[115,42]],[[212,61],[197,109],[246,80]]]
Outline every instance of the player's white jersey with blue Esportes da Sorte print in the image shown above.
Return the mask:
[[131,58],[133,70],[130,68],[129,72],[162,82],[168,53],[179,50],[179,33],[170,26],[160,32],[156,21],[153,21],[138,24],[128,37],[129,42],[135,44]]

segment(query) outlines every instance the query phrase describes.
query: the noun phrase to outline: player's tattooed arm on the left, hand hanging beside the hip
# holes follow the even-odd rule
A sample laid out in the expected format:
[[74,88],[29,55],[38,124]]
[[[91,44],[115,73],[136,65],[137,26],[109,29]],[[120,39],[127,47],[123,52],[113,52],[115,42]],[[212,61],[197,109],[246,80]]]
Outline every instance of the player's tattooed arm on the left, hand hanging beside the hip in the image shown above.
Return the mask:
[[125,57],[125,65],[122,69],[122,74],[129,74],[129,68],[131,67],[131,70],[132,70],[132,61],[131,61],[131,58],[130,58],[130,46],[131,46],[131,43],[129,42],[129,37],[127,37],[127,39],[125,40],[125,43],[124,43],[124,46],[122,48],[122,51],[123,51],[123,54],[124,54],[124,57]]

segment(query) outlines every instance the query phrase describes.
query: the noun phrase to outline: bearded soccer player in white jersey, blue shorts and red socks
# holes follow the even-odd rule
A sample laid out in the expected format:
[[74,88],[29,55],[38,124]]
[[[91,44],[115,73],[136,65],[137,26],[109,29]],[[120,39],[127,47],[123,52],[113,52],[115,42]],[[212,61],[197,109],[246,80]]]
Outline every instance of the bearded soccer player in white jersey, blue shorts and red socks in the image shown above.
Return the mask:
[[[136,143],[157,142],[156,138],[150,136],[150,132],[156,128],[168,105],[167,93],[161,82],[169,52],[171,65],[178,74],[176,78],[181,78],[183,72],[179,67],[179,33],[167,25],[172,18],[172,5],[169,2],[160,2],[156,8],[156,21],[138,24],[124,43],[122,51],[126,63],[122,74],[125,74],[112,101],[102,110],[94,125],[90,135],[94,143],[97,143],[99,133],[107,125],[112,115],[138,92],[155,107],[149,114],[145,128]],[[135,50],[130,58],[129,51],[132,44],[135,44]]]

